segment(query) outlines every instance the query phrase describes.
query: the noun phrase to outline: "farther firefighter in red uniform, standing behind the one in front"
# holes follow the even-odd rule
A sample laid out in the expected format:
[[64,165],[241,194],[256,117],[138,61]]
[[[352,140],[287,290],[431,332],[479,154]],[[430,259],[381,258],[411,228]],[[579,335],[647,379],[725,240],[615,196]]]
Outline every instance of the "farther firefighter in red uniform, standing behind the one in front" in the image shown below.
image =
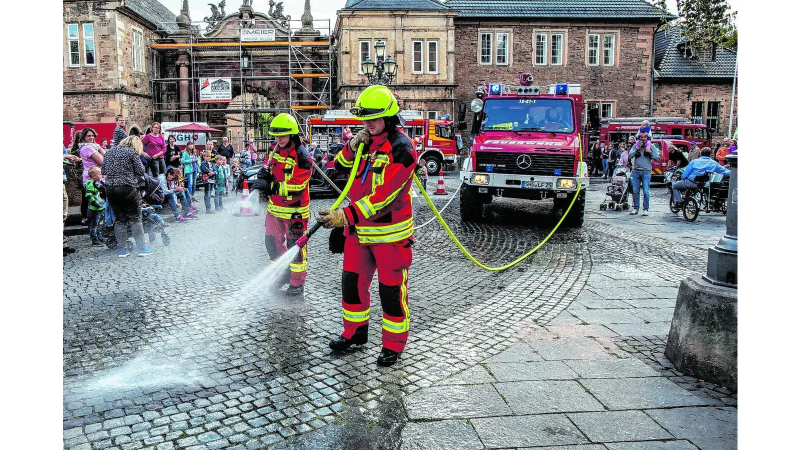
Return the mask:
[[[264,244],[274,263],[294,246],[308,227],[308,180],[311,178],[310,156],[300,143],[298,123],[292,115],[282,113],[270,123],[270,136],[277,141],[270,147],[270,156],[258,172],[261,188],[270,193],[266,206]],[[278,281],[278,288],[289,283],[287,295],[302,295],[306,283],[306,247],[289,264],[289,271]]]

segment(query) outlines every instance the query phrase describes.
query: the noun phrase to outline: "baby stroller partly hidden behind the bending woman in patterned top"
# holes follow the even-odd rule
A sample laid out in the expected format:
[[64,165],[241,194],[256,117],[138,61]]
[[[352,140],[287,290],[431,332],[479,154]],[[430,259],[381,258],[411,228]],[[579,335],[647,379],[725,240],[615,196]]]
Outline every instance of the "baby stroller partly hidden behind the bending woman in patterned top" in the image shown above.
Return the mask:
[[[150,243],[155,241],[155,235],[161,234],[162,243],[165,246],[170,245],[170,236],[166,235],[166,227],[168,226],[164,219],[158,215],[161,211],[161,203],[164,201],[164,190],[158,179],[151,178],[150,175],[143,175],[139,177],[139,194],[142,195],[142,227],[144,227],[147,240]],[[110,205],[106,202],[106,217],[101,219],[105,222],[103,235],[109,236],[106,240],[106,246],[109,248],[117,248],[118,242],[116,235],[114,235],[114,211],[111,211]],[[133,251],[134,243],[128,241],[128,250]]]

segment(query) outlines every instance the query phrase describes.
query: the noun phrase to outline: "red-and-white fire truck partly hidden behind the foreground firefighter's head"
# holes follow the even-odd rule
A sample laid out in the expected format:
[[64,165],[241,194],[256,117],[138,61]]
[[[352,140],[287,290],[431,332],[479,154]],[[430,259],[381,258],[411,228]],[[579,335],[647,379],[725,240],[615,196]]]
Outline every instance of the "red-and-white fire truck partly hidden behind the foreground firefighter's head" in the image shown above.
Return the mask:
[[[422,137],[417,147],[419,163],[423,163],[431,174],[438,174],[443,164],[458,166],[458,151],[461,149],[461,134],[449,115],[437,119],[423,119],[422,111],[402,110],[400,117],[405,121],[403,130],[411,139]],[[328,110],[324,115],[311,115],[306,130],[311,143],[326,151],[335,138],[342,138],[345,126],[356,132],[363,127],[360,120],[354,119],[349,110]]]

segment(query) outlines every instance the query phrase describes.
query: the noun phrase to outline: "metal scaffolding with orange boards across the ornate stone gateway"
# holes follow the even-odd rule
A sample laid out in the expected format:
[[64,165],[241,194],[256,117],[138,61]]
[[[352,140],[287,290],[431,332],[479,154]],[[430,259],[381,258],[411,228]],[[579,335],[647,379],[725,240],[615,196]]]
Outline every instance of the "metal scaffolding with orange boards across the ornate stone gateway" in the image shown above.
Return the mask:
[[[154,120],[207,123],[232,143],[247,137],[258,143],[270,140],[266,128],[274,115],[290,112],[306,123],[308,115],[330,109],[330,20],[314,20],[311,27],[236,18],[209,30],[196,22],[177,31],[174,22],[165,25],[151,35]],[[272,30],[268,38],[274,40],[248,41],[242,30]],[[203,78],[230,78],[230,100],[201,102]]]

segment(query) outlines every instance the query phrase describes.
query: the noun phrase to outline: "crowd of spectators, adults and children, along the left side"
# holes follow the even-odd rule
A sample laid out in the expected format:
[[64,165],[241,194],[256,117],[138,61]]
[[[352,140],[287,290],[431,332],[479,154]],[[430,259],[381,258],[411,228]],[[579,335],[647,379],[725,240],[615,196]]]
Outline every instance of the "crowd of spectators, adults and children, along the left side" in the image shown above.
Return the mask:
[[[152,249],[144,239],[142,215],[147,212],[142,192],[147,183],[160,187],[162,205],[150,208],[150,218],[157,215],[158,223],[168,226],[153,210],[161,209],[161,214],[171,212],[174,223],[186,223],[198,219],[194,206],[195,193],[202,189],[206,214],[225,211],[224,199],[235,191],[234,177],[258,162],[258,147],[250,138],[240,151],[234,151],[228,137],[214,146],[208,140],[205,149],[200,151],[194,142],[189,141],[183,148],[176,145],[174,136],[165,139],[161,123],[152,123],[146,135],[140,136],[126,131],[124,116],[115,118],[114,138],[108,146],[95,143],[98,135],[92,128],[84,128],[75,137],[70,151],[64,147],[65,161],[82,164],[82,225],[89,228],[94,247],[104,247],[110,235],[104,235],[104,228],[110,229],[113,223],[114,238],[118,255],[130,255],[126,243],[133,239],[138,255],[152,254]],[[66,171],[64,220],[68,200],[66,198]],[[212,206],[211,199],[214,198]],[[167,212],[168,211],[168,212]],[[105,219],[106,227],[101,227]],[[107,234],[107,233],[106,233]],[[74,252],[64,237],[64,255]]]

